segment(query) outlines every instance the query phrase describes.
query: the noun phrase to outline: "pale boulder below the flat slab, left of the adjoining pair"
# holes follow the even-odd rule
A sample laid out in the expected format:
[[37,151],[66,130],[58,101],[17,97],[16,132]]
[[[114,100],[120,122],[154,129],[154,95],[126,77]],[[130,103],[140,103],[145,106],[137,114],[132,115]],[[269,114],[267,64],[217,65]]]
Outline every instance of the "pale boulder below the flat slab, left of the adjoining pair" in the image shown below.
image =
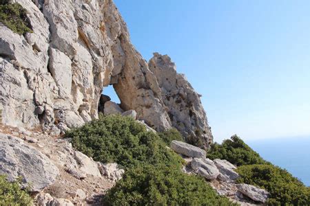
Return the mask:
[[220,174],[220,171],[218,171],[218,168],[216,168],[216,165],[211,159],[194,158],[191,162],[191,166],[197,174],[208,180],[214,180],[218,177],[218,174]]

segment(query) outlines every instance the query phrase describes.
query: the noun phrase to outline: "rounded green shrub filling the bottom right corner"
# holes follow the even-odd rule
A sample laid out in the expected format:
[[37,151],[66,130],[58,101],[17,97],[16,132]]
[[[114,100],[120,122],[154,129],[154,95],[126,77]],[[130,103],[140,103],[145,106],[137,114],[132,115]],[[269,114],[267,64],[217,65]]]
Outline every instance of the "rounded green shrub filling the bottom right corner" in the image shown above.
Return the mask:
[[238,183],[265,188],[268,205],[310,205],[310,188],[289,172],[274,165],[243,165],[237,169]]

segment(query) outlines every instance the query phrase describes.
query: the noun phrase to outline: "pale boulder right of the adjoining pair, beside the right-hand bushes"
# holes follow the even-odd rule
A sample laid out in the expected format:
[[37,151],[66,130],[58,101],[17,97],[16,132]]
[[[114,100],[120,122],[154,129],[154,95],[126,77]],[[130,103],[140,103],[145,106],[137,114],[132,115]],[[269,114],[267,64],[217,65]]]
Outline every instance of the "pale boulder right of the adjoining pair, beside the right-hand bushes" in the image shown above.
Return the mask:
[[214,159],[214,163],[220,171],[218,179],[221,181],[234,181],[239,177],[239,174],[234,171],[236,166],[231,164],[229,161],[225,159]]

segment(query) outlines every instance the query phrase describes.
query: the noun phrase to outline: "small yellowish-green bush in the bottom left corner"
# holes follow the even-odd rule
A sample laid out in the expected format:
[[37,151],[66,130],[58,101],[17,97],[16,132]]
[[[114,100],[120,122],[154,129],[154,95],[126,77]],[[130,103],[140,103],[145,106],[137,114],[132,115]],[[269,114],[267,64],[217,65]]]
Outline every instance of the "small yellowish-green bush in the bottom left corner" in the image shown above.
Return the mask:
[[10,183],[6,176],[0,175],[0,205],[32,205],[32,198],[21,190],[20,182]]

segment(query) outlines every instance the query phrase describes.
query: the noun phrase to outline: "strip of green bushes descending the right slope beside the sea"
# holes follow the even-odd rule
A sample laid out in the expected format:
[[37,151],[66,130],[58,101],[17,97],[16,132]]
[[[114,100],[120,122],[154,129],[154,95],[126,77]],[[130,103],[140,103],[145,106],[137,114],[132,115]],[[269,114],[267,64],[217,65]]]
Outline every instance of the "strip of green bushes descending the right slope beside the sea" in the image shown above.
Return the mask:
[[310,189],[283,170],[265,161],[234,135],[222,144],[214,144],[207,152],[210,159],[226,159],[238,165],[238,183],[264,188],[270,193],[268,205],[310,205]]

